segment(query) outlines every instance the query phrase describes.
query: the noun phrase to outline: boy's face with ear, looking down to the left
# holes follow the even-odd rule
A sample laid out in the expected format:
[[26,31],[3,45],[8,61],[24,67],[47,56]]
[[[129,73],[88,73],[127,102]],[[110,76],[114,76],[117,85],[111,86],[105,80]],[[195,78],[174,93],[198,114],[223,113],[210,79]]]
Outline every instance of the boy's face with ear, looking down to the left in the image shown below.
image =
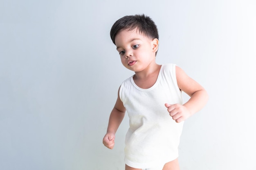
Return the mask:
[[141,72],[155,63],[158,39],[150,39],[137,29],[120,31],[115,37],[122,64],[129,70]]

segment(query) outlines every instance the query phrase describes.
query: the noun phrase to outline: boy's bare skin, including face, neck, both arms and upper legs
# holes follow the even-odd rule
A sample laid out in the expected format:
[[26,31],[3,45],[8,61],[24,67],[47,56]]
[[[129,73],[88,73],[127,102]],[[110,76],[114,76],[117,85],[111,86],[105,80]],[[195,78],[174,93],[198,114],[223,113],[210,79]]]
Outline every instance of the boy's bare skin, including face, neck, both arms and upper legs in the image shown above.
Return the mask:
[[[158,50],[158,39],[151,39],[137,29],[132,31],[120,31],[115,37],[117,51],[119,52],[121,63],[129,70],[135,72],[133,77],[137,86],[147,89],[152,87],[157,81],[161,65],[155,62],[155,52]],[[177,123],[182,122],[202,109],[207,103],[208,94],[205,89],[190,78],[181,68],[176,66],[176,78],[178,87],[188,94],[191,98],[184,103],[170,104],[163,103],[166,107],[166,113]],[[120,88],[119,88],[120,89]],[[115,133],[121,124],[126,109],[119,98],[110,113],[108,129],[103,137],[103,144],[110,149],[115,145]],[[126,170],[138,170],[126,165]],[[178,160],[175,159],[164,165],[163,170],[180,170]]]

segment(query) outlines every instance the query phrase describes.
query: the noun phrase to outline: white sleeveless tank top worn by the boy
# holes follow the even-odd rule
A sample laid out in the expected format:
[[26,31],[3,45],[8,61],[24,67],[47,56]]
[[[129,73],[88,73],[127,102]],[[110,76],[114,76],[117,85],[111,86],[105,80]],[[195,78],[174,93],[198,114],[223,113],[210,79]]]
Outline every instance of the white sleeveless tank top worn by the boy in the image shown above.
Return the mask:
[[183,122],[176,123],[165,103],[183,104],[174,64],[161,66],[156,83],[142,89],[126,79],[119,96],[130,119],[125,139],[125,163],[133,168],[150,168],[178,157]]

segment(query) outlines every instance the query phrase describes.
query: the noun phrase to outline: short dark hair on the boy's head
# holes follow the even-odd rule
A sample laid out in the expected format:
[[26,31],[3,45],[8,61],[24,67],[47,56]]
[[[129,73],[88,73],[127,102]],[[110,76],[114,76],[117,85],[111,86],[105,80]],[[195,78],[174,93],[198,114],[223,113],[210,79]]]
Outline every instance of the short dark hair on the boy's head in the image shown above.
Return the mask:
[[110,37],[112,39],[112,42],[115,44],[115,37],[117,36],[117,33],[122,30],[128,30],[132,31],[135,28],[139,30],[139,33],[142,33],[145,36],[148,36],[152,39],[159,39],[157,26],[155,25],[155,22],[144,14],[142,15],[127,15],[124,17],[121,17],[119,20],[117,20],[110,31]]

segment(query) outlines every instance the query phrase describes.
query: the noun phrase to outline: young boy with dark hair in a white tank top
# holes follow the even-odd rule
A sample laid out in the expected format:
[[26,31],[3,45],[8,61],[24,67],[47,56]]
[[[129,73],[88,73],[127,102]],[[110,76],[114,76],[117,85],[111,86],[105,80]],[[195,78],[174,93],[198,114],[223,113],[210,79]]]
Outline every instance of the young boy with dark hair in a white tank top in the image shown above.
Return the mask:
[[[124,67],[135,74],[119,87],[103,144],[114,147],[115,133],[127,111],[125,170],[179,170],[183,122],[206,104],[207,92],[176,65],[155,62],[159,36],[150,17],[122,17],[112,26],[110,37]],[[182,91],[191,97],[186,103]]]

